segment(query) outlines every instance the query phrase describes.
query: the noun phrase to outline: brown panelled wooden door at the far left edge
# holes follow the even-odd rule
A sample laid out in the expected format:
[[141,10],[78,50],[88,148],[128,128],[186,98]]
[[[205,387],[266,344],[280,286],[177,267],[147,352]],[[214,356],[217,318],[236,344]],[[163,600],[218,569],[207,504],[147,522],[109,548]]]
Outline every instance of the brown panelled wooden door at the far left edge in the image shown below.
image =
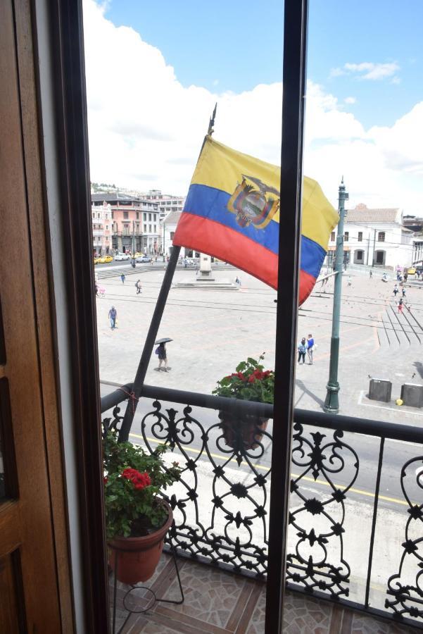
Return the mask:
[[71,632],[30,2],[0,2],[0,632]]

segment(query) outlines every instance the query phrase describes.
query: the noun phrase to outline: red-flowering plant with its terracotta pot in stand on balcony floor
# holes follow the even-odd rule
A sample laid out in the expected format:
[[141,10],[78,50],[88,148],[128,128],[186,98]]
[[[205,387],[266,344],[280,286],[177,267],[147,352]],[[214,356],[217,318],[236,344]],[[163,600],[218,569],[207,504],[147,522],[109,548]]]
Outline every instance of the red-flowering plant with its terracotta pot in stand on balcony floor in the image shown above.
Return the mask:
[[108,431],[103,439],[104,498],[109,564],[122,583],[148,580],[156,570],[173,515],[160,492],[179,480],[176,462],[166,467],[167,445],[152,454]]

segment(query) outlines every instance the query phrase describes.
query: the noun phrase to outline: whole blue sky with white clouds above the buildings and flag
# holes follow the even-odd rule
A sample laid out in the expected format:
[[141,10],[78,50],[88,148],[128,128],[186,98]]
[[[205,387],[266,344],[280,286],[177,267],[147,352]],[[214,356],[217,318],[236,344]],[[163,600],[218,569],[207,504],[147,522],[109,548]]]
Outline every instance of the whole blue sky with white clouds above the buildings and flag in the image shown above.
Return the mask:
[[[423,215],[422,0],[310,0],[304,173]],[[283,3],[84,0],[91,180],[186,194],[215,138],[280,156]]]

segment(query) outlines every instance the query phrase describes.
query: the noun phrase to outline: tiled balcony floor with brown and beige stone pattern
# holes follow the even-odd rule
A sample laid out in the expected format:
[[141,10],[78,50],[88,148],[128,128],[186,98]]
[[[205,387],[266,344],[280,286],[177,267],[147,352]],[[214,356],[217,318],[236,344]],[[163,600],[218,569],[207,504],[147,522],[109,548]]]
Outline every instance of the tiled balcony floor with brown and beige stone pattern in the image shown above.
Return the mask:
[[[132,614],[122,634],[263,634],[265,585],[215,568],[178,559],[185,600],[181,605],[156,603],[147,614]],[[155,576],[146,583],[165,599],[179,599],[171,557],[163,555]],[[118,584],[115,631],[127,612],[122,599],[127,586]],[[149,592],[134,590],[126,599],[131,609],[147,607]],[[343,609],[329,602],[289,592],[285,599],[286,634],[408,634],[414,628],[396,626]]]

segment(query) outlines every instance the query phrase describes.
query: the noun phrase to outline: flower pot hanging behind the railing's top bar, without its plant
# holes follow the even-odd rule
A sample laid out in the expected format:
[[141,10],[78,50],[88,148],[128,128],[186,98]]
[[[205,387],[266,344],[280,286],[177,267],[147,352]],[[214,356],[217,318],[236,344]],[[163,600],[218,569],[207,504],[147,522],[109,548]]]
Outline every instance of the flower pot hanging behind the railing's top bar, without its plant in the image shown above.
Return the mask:
[[255,449],[258,442],[263,438],[258,430],[267,428],[268,418],[254,416],[252,414],[244,414],[244,416],[236,416],[227,411],[220,411],[219,418],[222,421],[220,426],[225,437],[225,442],[233,449],[241,449],[240,442],[244,449]]

